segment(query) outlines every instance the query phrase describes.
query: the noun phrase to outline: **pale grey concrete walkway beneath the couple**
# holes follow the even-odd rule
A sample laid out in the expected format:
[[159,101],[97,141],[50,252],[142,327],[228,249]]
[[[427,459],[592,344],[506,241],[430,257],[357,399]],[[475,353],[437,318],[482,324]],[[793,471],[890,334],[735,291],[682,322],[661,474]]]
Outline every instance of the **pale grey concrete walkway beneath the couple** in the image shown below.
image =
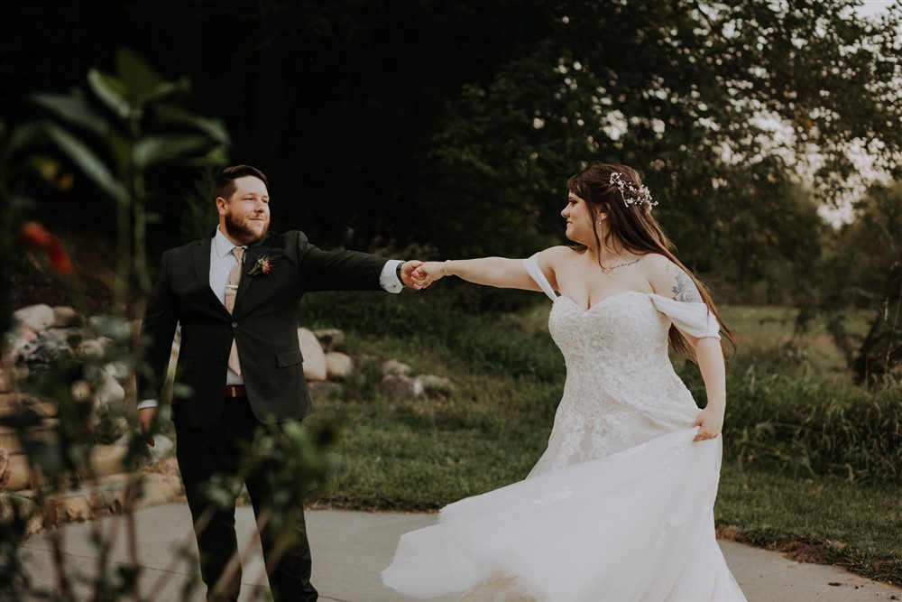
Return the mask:
[[[320,599],[340,602],[395,602],[410,600],[382,586],[380,572],[391,563],[401,533],[436,522],[434,514],[397,514],[308,511],[308,530],[313,547],[313,583]],[[201,588],[187,598],[182,589],[192,581],[199,584],[193,561],[180,560],[179,546],[197,553],[191,531],[188,506],[157,505],[134,514],[138,532],[138,558],[143,567],[141,592],[153,600],[187,599],[203,602]],[[241,600],[268,599],[260,545],[256,541],[253,512],[240,507],[236,513],[238,542],[244,554],[244,586]],[[104,533],[117,528],[112,558],[125,562],[124,523],[109,516],[91,523],[62,527],[66,564],[73,573],[97,574],[97,551],[90,533],[99,527]],[[865,600],[902,600],[902,588],[861,579],[838,567],[799,564],[782,554],[741,543],[720,542],[727,564],[750,602],[863,602]],[[22,557],[28,577],[41,588],[55,583],[51,558],[51,536],[33,536],[23,543]],[[70,575],[71,577],[71,575]],[[77,599],[87,599],[87,588],[78,586]],[[432,598],[434,602],[452,602],[455,596]]]

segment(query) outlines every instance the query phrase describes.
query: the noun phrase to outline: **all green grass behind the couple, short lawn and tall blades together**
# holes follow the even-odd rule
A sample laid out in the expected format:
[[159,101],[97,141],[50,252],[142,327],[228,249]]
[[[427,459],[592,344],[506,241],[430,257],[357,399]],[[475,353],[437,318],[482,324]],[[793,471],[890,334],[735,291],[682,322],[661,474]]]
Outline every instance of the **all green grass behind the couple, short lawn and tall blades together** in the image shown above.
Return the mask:
[[[342,468],[316,504],[433,511],[522,479],[545,449],[565,378],[548,304],[490,321],[478,309],[422,299],[310,312],[311,326],[345,329],[358,366],[342,392],[314,400],[310,420],[335,421],[342,432]],[[850,384],[823,331],[793,337],[792,310],[723,314],[741,351],[730,375],[717,523],[741,540],[802,542],[823,551],[821,560],[902,584],[902,384]],[[866,328],[867,315],[856,320]],[[390,357],[417,374],[447,376],[456,390],[386,399],[378,364]],[[697,396],[695,366],[676,365]]]

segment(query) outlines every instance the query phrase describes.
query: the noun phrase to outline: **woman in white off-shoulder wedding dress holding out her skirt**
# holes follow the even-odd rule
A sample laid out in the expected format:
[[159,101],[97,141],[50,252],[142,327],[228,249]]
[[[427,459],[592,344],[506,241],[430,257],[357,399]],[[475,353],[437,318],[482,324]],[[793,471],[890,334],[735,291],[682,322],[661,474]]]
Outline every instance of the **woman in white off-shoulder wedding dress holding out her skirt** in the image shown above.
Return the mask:
[[[704,287],[671,252],[639,174],[567,181],[573,246],[429,262],[421,276],[545,292],[566,384],[548,449],[519,483],[446,506],[400,539],[383,582],[468,601],[745,600],[714,539],[725,369]],[[559,292],[559,295],[556,293]],[[699,411],[668,341],[704,378]]]

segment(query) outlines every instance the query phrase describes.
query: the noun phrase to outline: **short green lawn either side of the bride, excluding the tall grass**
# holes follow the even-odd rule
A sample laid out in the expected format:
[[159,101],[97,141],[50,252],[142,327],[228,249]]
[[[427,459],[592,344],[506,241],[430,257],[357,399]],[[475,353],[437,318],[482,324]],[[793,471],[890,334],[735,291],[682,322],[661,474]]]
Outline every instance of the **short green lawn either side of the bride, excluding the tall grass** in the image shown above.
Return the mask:
[[[749,396],[756,370],[800,383],[815,400],[818,392],[833,391],[834,383],[845,380],[842,356],[823,331],[792,337],[791,310],[731,307],[723,314],[740,338],[733,363],[738,393],[732,403],[737,406],[757,399]],[[319,324],[346,328],[345,348],[354,356],[358,375],[340,392],[315,398],[317,412],[310,420],[337,422],[342,432],[335,450],[342,468],[316,504],[432,511],[529,473],[545,449],[565,377],[563,358],[548,335],[548,307],[502,315],[492,323],[478,316],[461,320],[455,330],[424,326],[410,337],[364,334],[364,329],[325,320]],[[867,316],[857,322],[865,328]],[[478,332],[467,330],[474,328]],[[803,352],[792,350],[799,348]],[[378,391],[378,365],[390,357],[410,364],[416,374],[451,378],[455,391],[386,399]],[[680,362],[677,367],[695,390],[700,384],[692,376],[695,367]],[[755,394],[761,394],[761,386],[774,384],[758,385]],[[784,388],[775,395],[793,391]],[[805,403],[812,403],[811,395]],[[740,409],[735,408],[737,417],[751,415]],[[898,480],[850,482],[745,459],[724,458],[715,506],[723,535],[902,584]]]

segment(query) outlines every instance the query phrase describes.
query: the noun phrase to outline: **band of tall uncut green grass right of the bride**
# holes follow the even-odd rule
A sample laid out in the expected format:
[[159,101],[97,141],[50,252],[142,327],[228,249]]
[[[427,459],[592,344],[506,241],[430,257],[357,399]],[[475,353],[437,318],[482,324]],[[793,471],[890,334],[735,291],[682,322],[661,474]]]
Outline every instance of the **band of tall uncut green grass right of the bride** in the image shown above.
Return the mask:
[[728,377],[727,389],[724,453],[741,464],[849,480],[902,477],[902,381],[869,389],[749,366]]

